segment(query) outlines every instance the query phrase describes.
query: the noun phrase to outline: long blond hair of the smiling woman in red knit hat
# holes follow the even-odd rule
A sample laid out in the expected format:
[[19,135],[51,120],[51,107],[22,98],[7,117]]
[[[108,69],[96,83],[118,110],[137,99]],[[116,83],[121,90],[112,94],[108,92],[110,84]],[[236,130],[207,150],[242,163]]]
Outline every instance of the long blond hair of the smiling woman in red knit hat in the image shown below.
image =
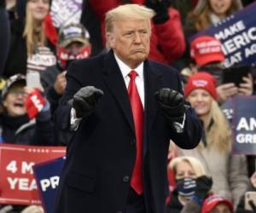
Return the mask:
[[[207,147],[217,148],[219,152],[228,153],[231,150],[231,130],[224,112],[218,107],[217,101],[212,99],[211,110],[204,122]],[[202,148],[202,142],[198,146]]]

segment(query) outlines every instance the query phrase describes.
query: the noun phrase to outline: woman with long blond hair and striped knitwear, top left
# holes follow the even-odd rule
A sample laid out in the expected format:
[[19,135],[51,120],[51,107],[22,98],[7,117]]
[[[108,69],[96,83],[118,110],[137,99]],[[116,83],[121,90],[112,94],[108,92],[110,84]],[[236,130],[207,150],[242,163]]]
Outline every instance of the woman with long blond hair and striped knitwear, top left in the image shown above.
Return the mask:
[[55,47],[44,33],[44,19],[48,12],[49,0],[27,0],[25,21],[21,17],[12,21],[4,77],[18,72],[40,72],[47,66],[55,65]]

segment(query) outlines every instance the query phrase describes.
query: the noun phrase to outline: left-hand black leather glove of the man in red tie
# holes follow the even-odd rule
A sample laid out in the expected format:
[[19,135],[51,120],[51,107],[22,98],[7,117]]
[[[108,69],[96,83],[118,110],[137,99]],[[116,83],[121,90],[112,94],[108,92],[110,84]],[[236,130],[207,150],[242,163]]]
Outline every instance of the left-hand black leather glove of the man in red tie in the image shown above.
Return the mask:
[[96,104],[103,95],[101,89],[96,89],[93,86],[87,86],[79,89],[73,95],[72,107],[76,111],[77,118],[86,118],[94,111]]

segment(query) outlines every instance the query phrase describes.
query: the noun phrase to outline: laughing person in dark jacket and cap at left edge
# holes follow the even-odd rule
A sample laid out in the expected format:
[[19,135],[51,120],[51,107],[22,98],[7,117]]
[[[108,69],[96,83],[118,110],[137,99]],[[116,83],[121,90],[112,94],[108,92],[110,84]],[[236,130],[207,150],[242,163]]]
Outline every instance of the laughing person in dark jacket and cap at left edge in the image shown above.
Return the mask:
[[[55,145],[49,102],[38,89],[26,87],[24,75],[16,74],[7,80],[2,91],[1,105],[0,141],[2,143]],[[20,213],[26,206],[7,204],[1,207],[8,210],[3,212]]]

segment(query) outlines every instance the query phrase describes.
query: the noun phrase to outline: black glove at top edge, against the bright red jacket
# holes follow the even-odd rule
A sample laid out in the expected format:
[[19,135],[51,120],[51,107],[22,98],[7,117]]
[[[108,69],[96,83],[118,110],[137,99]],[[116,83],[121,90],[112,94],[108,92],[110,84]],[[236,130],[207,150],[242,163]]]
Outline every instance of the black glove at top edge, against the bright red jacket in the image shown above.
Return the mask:
[[155,12],[153,17],[154,24],[162,24],[169,20],[168,7],[165,0],[146,0],[145,5]]

